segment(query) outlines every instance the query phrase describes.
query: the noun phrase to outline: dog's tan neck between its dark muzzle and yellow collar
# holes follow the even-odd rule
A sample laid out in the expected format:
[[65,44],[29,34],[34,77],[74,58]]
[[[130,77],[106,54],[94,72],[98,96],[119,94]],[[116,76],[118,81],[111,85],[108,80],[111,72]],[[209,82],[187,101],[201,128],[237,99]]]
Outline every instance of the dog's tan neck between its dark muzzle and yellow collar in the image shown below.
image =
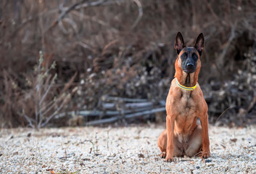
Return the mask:
[[186,73],[182,70],[182,68],[178,68],[178,62],[176,61],[176,72],[174,77],[177,78],[178,83],[182,86],[193,87],[197,84],[198,75],[200,68],[197,68],[195,72]]

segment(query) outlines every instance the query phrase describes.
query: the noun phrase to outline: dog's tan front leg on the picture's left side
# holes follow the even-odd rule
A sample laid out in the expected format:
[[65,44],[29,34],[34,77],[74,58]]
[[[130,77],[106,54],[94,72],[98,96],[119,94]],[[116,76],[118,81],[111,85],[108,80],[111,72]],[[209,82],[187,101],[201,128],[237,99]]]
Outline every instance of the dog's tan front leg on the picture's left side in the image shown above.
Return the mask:
[[173,161],[173,130],[174,130],[174,120],[173,117],[167,115],[166,117],[166,128],[167,128],[167,148],[165,162]]

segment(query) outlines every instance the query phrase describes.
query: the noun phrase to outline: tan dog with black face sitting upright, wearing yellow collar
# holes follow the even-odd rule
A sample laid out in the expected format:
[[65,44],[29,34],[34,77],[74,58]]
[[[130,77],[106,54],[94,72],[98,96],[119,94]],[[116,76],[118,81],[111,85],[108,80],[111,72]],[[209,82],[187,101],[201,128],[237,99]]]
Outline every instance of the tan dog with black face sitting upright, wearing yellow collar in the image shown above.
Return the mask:
[[[171,82],[165,104],[166,130],[157,140],[161,157],[166,162],[184,155],[210,157],[208,107],[197,83],[204,43],[202,33],[197,37],[194,47],[185,46],[180,32],[176,35],[174,49],[178,57],[175,78]],[[201,125],[197,125],[197,117]]]

